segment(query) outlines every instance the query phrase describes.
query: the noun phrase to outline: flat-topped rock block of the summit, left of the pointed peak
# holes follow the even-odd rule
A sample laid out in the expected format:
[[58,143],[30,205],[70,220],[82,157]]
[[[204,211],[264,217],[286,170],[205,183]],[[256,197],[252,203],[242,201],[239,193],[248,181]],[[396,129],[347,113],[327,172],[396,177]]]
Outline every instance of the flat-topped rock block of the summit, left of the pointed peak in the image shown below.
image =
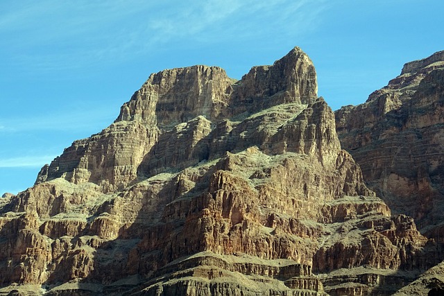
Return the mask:
[[168,129],[196,116],[215,119],[228,104],[233,80],[219,67],[193,66],[151,74],[116,121],[141,121]]

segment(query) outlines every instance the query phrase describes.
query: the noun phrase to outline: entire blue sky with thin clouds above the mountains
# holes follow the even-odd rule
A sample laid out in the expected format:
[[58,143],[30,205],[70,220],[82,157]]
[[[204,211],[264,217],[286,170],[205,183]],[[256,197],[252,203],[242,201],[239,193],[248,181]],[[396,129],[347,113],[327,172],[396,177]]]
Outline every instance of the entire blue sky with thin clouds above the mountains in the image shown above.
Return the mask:
[[239,79],[300,46],[336,110],[444,50],[443,11],[442,0],[0,1],[0,195],[112,123],[150,73],[207,64]]

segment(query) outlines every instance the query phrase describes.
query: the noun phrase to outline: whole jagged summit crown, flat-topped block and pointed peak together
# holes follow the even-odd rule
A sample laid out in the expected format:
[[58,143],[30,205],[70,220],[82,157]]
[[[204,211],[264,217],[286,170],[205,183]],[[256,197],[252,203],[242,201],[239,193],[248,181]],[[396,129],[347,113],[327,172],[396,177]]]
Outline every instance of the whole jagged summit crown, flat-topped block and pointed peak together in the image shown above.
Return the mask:
[[273,66],[253,67],[239,81],[219,67],[202,65],[151,74],[121,107],[117,121],[137,120],[161,129],[199,115],[217,122],[280,103],[312,103],[316,94],[314,65],[295,47]]

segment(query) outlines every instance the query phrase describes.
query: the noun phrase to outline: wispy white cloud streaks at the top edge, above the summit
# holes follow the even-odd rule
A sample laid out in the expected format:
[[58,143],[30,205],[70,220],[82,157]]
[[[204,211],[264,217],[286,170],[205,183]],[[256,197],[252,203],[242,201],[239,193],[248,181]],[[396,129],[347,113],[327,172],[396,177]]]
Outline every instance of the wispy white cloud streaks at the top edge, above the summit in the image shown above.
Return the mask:
[[226,42],[241,38],[297,35],[316,27],[316,18],[327,7],[325,0],[315,1],[206,1],[189,3],[173,16],[157,16],[148,21],[155,40],[178,38]]

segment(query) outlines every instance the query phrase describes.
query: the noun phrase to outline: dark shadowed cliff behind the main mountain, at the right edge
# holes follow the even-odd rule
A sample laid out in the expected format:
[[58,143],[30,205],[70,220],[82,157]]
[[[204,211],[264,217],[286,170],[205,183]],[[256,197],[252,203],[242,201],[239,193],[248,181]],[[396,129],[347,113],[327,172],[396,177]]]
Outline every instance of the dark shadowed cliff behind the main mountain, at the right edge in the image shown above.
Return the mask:
[[343,148],[391,209],[443,242],[444,51],[404,65],[358,106],[336,112]]

